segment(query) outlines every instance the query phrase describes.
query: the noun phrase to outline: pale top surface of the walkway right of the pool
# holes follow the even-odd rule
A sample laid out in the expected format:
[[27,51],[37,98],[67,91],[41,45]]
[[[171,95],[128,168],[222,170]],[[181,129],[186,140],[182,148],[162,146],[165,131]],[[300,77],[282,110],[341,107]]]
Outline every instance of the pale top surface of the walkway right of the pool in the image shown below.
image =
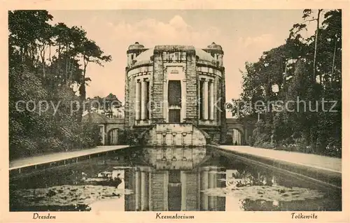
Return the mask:
[[318,168],[320,170],[342,173],[342,159],[335,157],[324,157],[321,155],[306,154],[301,152],[253,148],[250,146],[220,145],[219,148],[239,154],[248,154],[255,157],[285,161],[290,164],[297,164],[311,168]]

